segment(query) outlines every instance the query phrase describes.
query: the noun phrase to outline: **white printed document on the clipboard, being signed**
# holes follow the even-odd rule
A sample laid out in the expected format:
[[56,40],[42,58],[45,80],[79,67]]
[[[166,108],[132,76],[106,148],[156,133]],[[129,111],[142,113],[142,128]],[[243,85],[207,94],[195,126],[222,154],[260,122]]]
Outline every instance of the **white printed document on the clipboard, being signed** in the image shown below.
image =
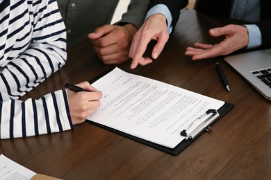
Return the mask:
[[202,124],[199,117],[208,109],[224,105],[221,100],[118,68],[92,86],[103,98],[88,120],[169,148],[183,141],[183,129],[192,131]]

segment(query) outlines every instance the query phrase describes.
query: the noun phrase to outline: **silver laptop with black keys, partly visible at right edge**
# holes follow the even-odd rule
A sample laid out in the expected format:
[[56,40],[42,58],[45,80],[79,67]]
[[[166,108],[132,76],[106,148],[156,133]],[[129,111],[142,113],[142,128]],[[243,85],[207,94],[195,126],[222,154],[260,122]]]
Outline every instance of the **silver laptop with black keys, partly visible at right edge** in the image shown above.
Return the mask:
[[271,100],[271,48],[224,57],[233,69]]

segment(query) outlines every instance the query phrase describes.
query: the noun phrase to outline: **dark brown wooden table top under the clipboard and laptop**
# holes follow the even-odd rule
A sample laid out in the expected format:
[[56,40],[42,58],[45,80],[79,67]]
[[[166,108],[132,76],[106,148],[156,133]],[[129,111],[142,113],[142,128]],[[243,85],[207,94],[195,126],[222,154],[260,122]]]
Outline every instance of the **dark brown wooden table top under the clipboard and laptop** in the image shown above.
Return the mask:
[[[192,61],[183,55],[195,42],[215,43],[208,29],[230,23],[185,10],[158,60],[131,70],[131,60],[120,69],[202,93],[235,106],[211,131],[181,154],[172,156],[90,123],[74,130],[0,141],[0,153],[40,174],[60,179],[270,179],[271,106],[222,57]],[[151,52],[151,43],[146,55]],[[220,82],[220,62],[231,91]],[[90,80],[113,66],[101,63],[85,41],[68,51],[67,64],[28,93],[39,98],[63,89],[66,82]],[[110,87],[108,87],[110,88]]]

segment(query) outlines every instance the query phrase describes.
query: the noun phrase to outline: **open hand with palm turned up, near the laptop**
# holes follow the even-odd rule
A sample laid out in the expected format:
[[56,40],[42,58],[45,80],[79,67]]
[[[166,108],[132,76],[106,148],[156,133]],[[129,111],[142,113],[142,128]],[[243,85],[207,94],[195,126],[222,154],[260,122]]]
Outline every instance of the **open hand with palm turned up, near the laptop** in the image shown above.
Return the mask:
[[225,39],[219,44],[201,44],[196,43],[195,48],[186,48],[186,55],[191,55],[192,60],[201,60],[219,55],[228,55],[233,51],[245,48],[249,43],[247,28],[240,25],[227,25],[222,28],[213,28],[209,30],[213,37],[225,35]]

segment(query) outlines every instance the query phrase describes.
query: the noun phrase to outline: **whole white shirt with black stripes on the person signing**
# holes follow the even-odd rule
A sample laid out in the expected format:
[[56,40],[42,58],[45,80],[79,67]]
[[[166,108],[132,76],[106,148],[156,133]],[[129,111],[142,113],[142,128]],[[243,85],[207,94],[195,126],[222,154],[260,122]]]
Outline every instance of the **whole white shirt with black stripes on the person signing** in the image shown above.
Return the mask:
[[66,62],[66,33],[55,0],[0,0],[0,137],[72,129],[66,91],[18,100]]

